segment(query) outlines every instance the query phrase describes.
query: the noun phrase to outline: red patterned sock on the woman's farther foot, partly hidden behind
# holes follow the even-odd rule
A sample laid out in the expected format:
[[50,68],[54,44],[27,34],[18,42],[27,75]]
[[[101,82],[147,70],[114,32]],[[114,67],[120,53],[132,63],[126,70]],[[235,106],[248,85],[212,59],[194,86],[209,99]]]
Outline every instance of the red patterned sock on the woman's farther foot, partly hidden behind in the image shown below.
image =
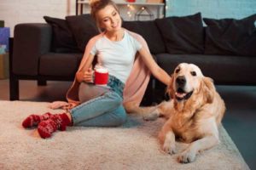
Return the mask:
[[52,116],[49,112],[44,113],[44,115],[30,115],[26,117],[26,119],[22,122],[22,126],[25,128],[38,126],[39,122],[45,121],[49,119],[49,117]]

